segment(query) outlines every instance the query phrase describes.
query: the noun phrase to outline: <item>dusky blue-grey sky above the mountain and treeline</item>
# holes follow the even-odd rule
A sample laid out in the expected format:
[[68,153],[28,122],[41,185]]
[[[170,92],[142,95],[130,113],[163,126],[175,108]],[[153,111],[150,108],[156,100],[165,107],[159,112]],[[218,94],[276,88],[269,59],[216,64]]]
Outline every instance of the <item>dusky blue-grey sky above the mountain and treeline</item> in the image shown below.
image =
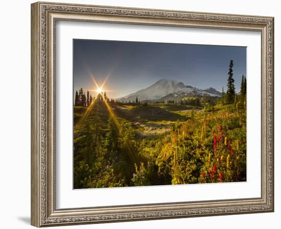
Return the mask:
[[[226,91],[229,61],[240,91],[246,76],[246,47],[154,42],[74,40],[74,92],[96,90],[90,74],[108,97],[119,98],[149,87],[159,79],[173,79],[198,89]],[[91,92],[95,96],[95,92]]]

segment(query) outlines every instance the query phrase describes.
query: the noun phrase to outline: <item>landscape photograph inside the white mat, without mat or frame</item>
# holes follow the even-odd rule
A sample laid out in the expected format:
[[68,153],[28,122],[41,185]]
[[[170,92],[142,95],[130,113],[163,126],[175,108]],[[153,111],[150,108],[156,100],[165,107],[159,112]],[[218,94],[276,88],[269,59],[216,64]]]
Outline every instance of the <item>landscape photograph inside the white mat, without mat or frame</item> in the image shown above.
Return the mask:
[[73,188],[246,182],[246,51],[73,39]]

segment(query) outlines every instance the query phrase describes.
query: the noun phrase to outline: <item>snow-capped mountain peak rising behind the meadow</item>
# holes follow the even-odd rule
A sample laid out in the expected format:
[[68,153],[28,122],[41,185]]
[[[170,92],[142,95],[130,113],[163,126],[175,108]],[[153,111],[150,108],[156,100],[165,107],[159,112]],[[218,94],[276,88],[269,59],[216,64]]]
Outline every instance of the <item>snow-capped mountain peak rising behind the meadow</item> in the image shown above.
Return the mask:
[[[212,89],[212,93],[210,91]],[[184,85],[182,82],[170,79],[160,79],[157,82],[153,83],[150,87],[146,89],[139,90],[130,95],[118,98],[119,101],[134,101],[136,97],[139,101],[144,100],[169,100],[176,97],[183,98],[186,96],[212,96],[220,97],[218,91],[213,88],[208,90],[201,90],[189,85]],[[215,90],[215,91],[214,91]],[[169,97],[169,98],[168,98]]]

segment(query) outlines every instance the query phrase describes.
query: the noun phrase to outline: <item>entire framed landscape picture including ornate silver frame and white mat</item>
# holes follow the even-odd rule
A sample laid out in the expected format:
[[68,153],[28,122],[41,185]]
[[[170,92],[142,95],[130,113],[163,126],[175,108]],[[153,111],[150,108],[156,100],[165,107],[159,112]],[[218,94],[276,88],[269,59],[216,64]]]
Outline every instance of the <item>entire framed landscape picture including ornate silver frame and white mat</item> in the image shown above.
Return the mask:
[[31,224],[274,211],[274,18],[31,5]]

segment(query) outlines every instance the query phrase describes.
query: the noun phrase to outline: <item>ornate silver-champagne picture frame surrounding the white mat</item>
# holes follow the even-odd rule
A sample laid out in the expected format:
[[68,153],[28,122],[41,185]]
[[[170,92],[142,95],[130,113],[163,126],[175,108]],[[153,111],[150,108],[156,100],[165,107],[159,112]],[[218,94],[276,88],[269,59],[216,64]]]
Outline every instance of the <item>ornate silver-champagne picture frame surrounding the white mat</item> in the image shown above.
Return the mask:
[[[262,196],[169,204],[56,209],[55,28],[57,20],[260,31]],[[31,5],[31,224],[37,227],[274,211],[274,18],[58,3]]]

